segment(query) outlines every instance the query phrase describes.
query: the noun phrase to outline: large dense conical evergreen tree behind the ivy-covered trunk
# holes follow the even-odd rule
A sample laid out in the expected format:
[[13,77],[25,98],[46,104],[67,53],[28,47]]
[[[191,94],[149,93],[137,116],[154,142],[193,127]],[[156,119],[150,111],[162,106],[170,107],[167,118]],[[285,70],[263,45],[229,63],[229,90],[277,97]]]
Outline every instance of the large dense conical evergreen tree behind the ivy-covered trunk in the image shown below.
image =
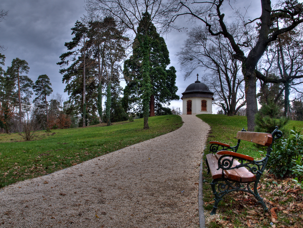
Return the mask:
[[[169,52],[165,40],[157,33],[148,13],[143,14],[137,31],[132,56],[124,63],[123,73],[127,85],[122,102],[125,110],[130,110],[134,104],[139,105],[147,94],[144,91],[149,85],[145,83],[150,81],[148,116],[155,116],[155,109],[158,113],[165,111],[162,104],[179,99],[176,95],[178,88],[175,86],[176,70],[173,66],[166,69],[170,64]],[[148,45],[147,50],[144,49],[145,45]],[[144,65],[145,54],[149,57]],[[144,78],[144,68],[148,71],[148,79]],[[144,102],[143,99],[143,109]]]

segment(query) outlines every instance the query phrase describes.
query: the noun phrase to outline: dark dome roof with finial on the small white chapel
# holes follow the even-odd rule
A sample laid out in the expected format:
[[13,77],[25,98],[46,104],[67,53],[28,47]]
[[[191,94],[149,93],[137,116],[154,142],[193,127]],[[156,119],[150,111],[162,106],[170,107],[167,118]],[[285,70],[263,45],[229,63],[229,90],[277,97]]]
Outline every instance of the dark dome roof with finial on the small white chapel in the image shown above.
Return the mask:
[[204,83],[201,83],[198,79],[195,81],[195,83],[191,83],[187,86],[185,91],[182,93],[183,98],[187,97],[211,97],[213,99],[214,93],[211,92],[207,85]]

